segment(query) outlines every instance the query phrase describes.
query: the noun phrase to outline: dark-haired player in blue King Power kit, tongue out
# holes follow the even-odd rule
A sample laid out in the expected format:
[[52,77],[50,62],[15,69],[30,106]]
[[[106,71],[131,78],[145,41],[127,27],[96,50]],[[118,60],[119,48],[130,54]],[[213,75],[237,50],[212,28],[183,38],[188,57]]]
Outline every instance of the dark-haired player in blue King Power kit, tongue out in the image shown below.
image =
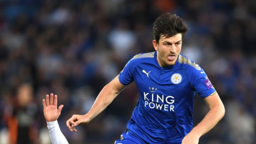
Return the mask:
[[[135,55],[116,78],[98,94],[90,111],[75,114],[66,125],[69,130],[89,123],[131,82],[139,98],[127,129],[116,144],[198,144],[225,113],[224,105],[204,70],[180,54],[188,31],[182,18],[170,13],[158,17],[153,26],[154,52]],[[198,93],[209,112],[193,128],[194,96]]]

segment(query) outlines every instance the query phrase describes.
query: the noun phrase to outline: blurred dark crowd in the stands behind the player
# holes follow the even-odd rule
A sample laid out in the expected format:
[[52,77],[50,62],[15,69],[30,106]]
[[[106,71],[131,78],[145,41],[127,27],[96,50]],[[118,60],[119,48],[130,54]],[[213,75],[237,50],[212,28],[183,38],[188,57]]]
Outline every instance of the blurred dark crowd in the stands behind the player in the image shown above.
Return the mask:
[[[226,108],[199,144],[255,144],[255,0],[0,0],[0,144],[50,143],[42,99],[51,92],[71,144],[113,144],[137,102],[134,83],[78,132],[65,122],[89,111],[133,55],[154,51],[153,22],[166,12],[188,23],[181,53]],[[196,96],[194,124],[208,110]]]

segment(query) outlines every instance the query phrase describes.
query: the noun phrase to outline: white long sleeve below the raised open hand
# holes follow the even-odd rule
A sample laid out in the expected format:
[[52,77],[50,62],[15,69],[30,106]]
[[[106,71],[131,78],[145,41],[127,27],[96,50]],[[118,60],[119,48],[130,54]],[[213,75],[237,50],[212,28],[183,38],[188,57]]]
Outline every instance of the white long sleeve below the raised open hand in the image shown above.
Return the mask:
[[47,128],[50,133],[50,138],[53,144],[68,144],[65,136],[59,128],[58,121],[47,122]]

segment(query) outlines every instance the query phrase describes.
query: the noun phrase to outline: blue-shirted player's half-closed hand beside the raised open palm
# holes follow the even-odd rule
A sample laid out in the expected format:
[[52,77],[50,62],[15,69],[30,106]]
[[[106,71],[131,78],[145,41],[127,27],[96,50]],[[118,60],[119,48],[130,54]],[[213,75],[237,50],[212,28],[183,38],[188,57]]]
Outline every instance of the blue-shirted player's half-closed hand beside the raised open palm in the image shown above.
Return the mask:
[[82,124],[87,124],[90,122],[90,118],[85,114],[85,115],[80,115],[80,114],[74,114],[68,121],[66,121],[66,126],[69,128],[71,132],[77,131],[75,129],[76,126],[82,125]]

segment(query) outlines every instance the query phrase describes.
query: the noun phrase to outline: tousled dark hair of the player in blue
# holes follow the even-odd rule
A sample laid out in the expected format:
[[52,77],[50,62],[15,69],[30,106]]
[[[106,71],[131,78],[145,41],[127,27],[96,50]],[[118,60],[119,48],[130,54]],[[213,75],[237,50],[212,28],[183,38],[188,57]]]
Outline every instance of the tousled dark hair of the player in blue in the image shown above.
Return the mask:
[[154,38],[158,44],[161,36],[169,38],[181,33],[183,39],[187,31],[187,23],[176,14],[172,15],[169,12],[156,18],[153,26]]

